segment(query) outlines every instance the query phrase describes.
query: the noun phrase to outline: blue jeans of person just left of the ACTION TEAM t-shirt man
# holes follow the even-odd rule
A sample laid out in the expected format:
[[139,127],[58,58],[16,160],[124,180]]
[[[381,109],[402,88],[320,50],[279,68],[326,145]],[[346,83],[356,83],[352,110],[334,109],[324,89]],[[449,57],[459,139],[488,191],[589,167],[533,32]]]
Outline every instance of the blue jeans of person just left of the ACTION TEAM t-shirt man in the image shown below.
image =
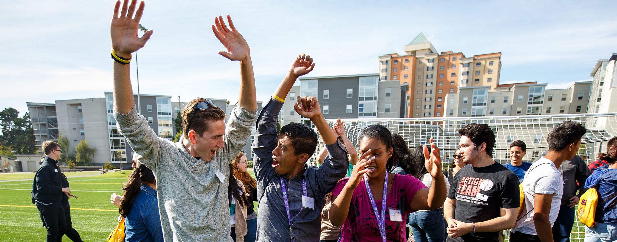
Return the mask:
[[442,209],[409,214],[409,225],[417,242],[443,242],[445,240],[445,219]]

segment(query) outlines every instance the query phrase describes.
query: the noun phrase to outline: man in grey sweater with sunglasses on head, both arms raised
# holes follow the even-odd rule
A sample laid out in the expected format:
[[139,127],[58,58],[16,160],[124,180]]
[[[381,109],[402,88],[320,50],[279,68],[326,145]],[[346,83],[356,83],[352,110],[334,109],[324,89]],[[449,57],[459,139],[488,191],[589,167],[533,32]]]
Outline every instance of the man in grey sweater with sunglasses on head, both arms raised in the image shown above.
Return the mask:
[[[212,25],[214,35],[230,60],[239,60],[241,69],[239,107],[233,109],[225,126],[225,112],[206,99],[193,99],[182,111],[184,135],[177,143],[160,138],[139,115],[133,101],[130,80],[131,53],[142,48],[152,35],[138,38],[144,2],[118,1],[111,23],[114,59],[114,117],[118,130],[140,162],[156,175],[159,211],[165,241],[233,241],[227,197],[230,162],[249,141],[257,112],[255,80],[250,49],[227,16]],[[118,16],[118,12],[120,15]],[[133,14],[135,13],[135,19]],[[202,88],[207,88],[204,83]]]

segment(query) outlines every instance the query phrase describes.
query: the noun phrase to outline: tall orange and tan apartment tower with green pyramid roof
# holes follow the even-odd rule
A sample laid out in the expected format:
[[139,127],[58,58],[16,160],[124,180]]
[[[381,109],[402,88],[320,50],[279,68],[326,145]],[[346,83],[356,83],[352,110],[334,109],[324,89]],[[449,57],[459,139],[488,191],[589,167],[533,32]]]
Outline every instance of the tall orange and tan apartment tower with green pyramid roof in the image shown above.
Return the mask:
[[499,85],[501,52],[465,57],[437,52],[423,33],[404,48],[405,55],[379,56],[379,80],[399,81],[405,90],[404,117],[445,117],[445,95],[460,87]]

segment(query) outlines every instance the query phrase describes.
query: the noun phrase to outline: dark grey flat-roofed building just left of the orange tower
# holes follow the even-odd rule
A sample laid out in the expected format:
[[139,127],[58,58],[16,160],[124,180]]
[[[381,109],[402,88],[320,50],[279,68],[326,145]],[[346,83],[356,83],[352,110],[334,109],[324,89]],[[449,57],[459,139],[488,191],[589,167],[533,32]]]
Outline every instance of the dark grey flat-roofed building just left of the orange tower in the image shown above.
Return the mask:
[[[328,77],[300,77],[299,95],[315,96],[326,119],[398,118],[401,105],[399,81],[379,81],[379,74],[339,75]],[[287,98],[292,100],[291,94]],[[296,115],[292,103],[283,106],[285,114]],[[293,115],[292,115],[293,114]],[[288,122],[288,115],[283,117]],[[302,123],[310,120],[298,117]],[[296,122],[296,117],[289,118]],[[294,119],[294,120],[291,120]]]

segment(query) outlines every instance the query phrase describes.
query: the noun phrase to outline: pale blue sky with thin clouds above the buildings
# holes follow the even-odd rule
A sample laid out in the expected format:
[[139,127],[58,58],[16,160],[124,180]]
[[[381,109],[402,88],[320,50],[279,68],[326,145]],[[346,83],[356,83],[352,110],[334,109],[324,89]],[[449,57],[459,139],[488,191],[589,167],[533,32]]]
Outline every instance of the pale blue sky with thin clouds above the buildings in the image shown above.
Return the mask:
[[[0,1],[0,109],[26,102],[102,98],[112,91],[109,23],[115,1]],[[138,52],[141,93],[238,99],[239,64],[210,25],[230,14],[265,101],[297,54],[309,76],[377,73],[421,31],[437,51],[502,52],[501,83],[548,88],[589,80],[617,52],[617,1],[146,1],[154,30]],[[136,92],[135,65],[131,64]]]

